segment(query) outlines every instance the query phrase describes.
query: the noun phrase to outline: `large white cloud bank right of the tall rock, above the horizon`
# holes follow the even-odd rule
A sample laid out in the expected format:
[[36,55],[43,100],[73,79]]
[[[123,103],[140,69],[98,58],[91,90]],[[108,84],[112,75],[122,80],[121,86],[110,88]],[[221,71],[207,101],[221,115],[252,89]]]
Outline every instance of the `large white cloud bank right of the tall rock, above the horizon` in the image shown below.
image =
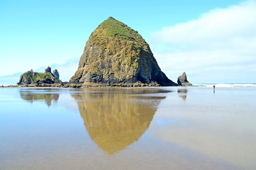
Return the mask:
[[256,1],[216,8],[152,33],[160,68],[173,81],[186,71],[192,83],[255,83],[255,9]]

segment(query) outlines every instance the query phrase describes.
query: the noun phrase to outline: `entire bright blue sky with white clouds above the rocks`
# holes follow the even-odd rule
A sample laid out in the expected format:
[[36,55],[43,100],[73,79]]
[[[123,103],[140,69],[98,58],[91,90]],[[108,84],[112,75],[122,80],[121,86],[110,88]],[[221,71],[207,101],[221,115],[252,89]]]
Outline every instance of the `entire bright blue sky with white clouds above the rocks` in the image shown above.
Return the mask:
[[137,30],[174,82],[256,83],[256,0],[0,0],[0,84],[57,69],[69,81],[109,16]]

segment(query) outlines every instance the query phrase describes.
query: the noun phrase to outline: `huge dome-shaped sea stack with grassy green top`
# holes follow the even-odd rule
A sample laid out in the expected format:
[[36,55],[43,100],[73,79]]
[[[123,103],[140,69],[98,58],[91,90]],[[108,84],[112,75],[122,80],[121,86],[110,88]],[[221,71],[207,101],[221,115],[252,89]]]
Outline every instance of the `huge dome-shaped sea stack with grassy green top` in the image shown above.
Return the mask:
[[69,82],[177,86],[161,71],[141,35],[113,17],[92,32]]

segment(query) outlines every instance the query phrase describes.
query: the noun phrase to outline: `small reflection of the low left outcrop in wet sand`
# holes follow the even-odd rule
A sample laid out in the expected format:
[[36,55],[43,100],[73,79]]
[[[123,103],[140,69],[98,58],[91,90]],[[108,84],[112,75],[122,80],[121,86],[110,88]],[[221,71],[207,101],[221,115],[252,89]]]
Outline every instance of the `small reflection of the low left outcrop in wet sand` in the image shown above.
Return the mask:
[[[31,92],[31,91],[30,91]],[[49,107],[53,101],[59,99],[59,94],[56,93],[26,93],[26,91],[20,91],[20,97],[23,100],[28,100],[33,103],[34,100],[45,100],[45,104]]]

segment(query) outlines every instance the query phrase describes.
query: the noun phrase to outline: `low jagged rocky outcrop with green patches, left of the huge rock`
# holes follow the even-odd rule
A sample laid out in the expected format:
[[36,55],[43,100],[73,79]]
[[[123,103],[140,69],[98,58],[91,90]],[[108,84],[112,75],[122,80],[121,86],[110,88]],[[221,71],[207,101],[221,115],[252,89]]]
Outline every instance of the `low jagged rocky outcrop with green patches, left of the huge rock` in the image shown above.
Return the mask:
[[20,76],[20,81],[17,85],[26,85],[26,84],[56,84],[61,83],[61,80],[57,80],[56,77],[52,74],[51,68],[48,66],[45,69],[44,73],[27,71]]

